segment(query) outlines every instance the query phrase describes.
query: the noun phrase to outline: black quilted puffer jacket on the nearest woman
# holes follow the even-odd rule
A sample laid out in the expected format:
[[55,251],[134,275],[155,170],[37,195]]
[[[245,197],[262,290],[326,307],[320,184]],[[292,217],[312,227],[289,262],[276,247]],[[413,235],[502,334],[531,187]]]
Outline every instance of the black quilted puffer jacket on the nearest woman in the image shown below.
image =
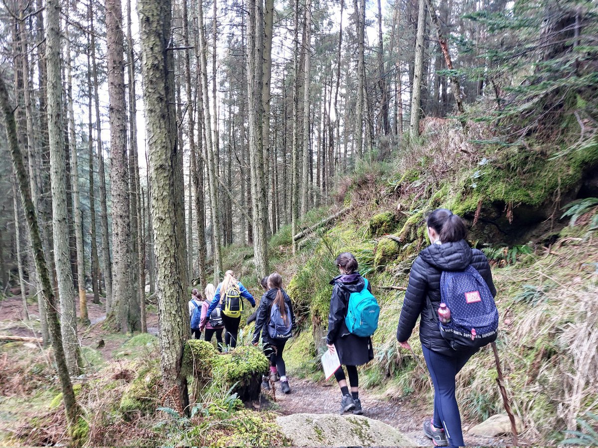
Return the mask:
[[[443,271],[463,271],[472,265],[486,281],[492,296],[496,296],[496,288],[492,281],[492,272],[486,256],[477,249],[472,249],[467,241],[455,243],[432,244],[419,254],[411,266],[409,284],[405,291],[405,300],[401,309],[396,339],[404,342],[409,339],[419,315],[419,339],[432,351],[445,355],[454,354],[454,350],[440,335],[437,320],[440,306],[440,276]],[[428,300],[426,299],[429,299]],[[432,309],[430,309],[430,304]]]

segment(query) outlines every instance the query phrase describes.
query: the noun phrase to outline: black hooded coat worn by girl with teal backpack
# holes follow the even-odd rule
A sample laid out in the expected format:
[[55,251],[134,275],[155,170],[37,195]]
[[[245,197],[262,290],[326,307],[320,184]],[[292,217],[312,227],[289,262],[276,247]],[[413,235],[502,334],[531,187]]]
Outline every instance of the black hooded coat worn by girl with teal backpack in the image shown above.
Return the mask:
[[[364,289],[364,278],[359,275],[359,272],[353,272],[353,274],[338,275],[330,284],[333,285],[333,288],[326,343],[334,344],[340,363],[344,366],[361,366],[361,364],[374,359],[371,337],[361,337],[350,333],[344,323],[344,318],[347,315],[349,296],[351,293]],[[368,291],[371,292],[369,283]]]

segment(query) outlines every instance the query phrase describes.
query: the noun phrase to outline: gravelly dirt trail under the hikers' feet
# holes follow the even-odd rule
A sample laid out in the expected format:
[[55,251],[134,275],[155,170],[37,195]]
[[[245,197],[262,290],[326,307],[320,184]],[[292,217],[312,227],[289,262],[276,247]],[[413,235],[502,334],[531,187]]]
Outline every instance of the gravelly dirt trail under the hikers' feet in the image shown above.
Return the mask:
[[[327,414],[337,413],[340,407],[340,390],[336,385],[319,384],[309,380],[290,379],[291,394],[280,392],[276,383],[276,403],[280,406],[278,412],[283,415],[296,413]],[[364,409],[364,415],[393,426],[404,434],[409,435],[421,446],[430,446],[431,440],[422,433],[422,422],[429,414],[426,409],[414,408],[413,404],[388,401],[367,391],[360,391],[359,398]],[[463,424],[465,443],[468,446],[507,446],[511,444],[510,437],[486,438],[466,435],[467,430],[474,426]],[[523,445],[520,440],[520,445]]]

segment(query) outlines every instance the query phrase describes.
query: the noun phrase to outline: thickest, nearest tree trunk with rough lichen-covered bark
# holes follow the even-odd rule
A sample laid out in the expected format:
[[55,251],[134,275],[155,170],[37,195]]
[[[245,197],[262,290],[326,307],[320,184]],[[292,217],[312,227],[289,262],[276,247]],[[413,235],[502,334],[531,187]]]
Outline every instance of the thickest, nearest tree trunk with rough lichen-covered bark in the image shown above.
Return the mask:
[[[186,257],[181,220],[183,198],[176,186],[175,89],[170,0],[138,3],[143,53],[144,104],[147,119],[149,172],[151,176],[154,242],[156,245],[158,316],[162,379],[166,391],[175,392],[178,411],[187,408],[187,379],[181,375],[182,351],[190,333],[187,294],[183,289]],[[200,25],[202,22],[200,21]]]

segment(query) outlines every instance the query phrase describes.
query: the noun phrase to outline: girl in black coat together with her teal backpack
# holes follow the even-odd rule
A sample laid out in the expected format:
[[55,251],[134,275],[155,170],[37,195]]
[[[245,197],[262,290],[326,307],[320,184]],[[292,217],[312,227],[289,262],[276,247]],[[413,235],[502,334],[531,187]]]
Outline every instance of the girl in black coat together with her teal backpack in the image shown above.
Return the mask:
[[[357,272],[357,260],[352,253],[341,253],[334,264],[340,275],[330,282],[333,287],[326,345],[337,352],[341,363],[334,372],[343,395],[340,413],[362,414],[357,366],[374,359],[371,335],[378,326],[380,308],[371,294],[370,284]],[[350,394],[343,366],[349,375]]]

